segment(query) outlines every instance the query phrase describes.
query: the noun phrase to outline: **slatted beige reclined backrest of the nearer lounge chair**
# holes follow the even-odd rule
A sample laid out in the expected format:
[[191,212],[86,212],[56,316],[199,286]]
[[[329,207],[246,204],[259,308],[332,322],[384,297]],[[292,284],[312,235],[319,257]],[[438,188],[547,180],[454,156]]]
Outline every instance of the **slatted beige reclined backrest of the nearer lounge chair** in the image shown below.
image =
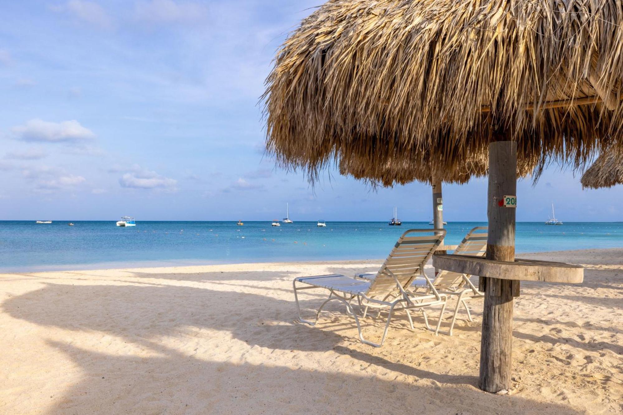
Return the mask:
[[445,229],[409,229],[404,232],[389,252],[366,295],[370,298],[385,297],[397,289],[396,279],[402,289],[407,289],[417,276],[424,273],[424,264],[444,240],[445,232]]

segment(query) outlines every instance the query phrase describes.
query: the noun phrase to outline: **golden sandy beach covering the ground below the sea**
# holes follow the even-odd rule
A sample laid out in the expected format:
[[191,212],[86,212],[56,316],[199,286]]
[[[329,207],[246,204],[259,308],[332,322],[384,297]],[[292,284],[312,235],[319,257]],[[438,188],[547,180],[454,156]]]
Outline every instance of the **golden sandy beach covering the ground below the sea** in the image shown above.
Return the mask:
[[378,260],[0,275],[0,413],[622,413],[623,249],[521,256],[587,269],[522,284],[505,396],[477,388],[482,301],[452,337],[399,314],[383,348],[338,303],[295,321],[293,277]]

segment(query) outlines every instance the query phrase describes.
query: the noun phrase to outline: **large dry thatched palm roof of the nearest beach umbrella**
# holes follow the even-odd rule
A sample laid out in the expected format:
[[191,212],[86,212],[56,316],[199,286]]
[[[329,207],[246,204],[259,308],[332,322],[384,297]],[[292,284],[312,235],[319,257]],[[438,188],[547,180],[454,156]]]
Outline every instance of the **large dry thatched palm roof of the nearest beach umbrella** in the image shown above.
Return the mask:
[[609,0],[330,0],[278,50],[267,149],[312,178],[341,160],[460,170],[509,136],[520,165],[581,166],[623,142],[622,25]]

